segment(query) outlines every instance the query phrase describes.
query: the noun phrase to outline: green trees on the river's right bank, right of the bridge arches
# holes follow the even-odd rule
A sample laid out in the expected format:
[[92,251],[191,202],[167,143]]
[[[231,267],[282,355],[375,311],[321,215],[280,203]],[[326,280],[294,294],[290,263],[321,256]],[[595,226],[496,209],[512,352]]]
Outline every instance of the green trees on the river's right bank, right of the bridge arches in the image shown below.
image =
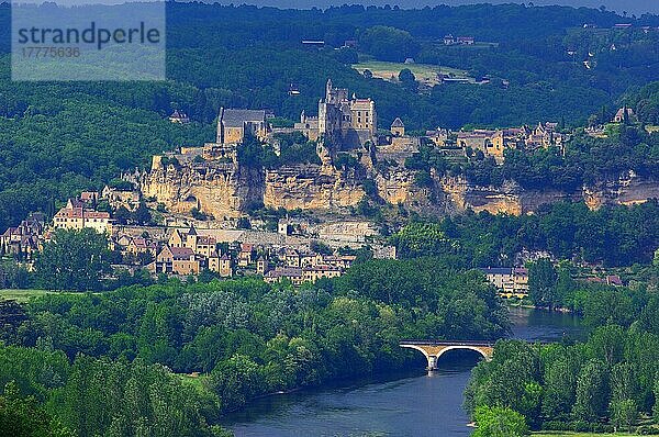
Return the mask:
[[477,422],[512,437],[527,426],[656,434],[648,426],[659,414],[656,292],[601,288],[581,299],[593,328],[587,341],[501,341],[477,366],[466,392]]

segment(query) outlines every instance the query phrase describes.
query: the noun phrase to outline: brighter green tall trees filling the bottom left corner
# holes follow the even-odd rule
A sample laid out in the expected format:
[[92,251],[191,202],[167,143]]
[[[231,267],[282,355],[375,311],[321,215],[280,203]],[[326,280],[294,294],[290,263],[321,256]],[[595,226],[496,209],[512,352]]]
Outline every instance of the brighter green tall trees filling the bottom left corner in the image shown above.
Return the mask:
[[0,434],[213,436],[217,400],[163,366],[0,347]]

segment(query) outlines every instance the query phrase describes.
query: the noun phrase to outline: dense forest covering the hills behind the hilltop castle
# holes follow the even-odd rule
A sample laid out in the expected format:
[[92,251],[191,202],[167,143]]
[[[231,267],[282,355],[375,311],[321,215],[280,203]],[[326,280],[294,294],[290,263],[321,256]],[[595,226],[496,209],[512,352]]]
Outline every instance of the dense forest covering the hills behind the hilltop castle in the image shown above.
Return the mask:
[[[624,19],[608,11],[513,4],[295,11],[169,2],[167,8],[169,79],[164,82],[12,82],[9,47],[0,46],[0,228],[29,211],[46,210],[52,200],[145,167],[153,153],[212,139],[211,124],[222,105],[268,108],[288,120],[302,110],[313,113],[327,78],[376,99],[382,126],[395,116],[411,130],[545,120],[573,126],[603,105],[612,111],[626,92],[647,123],[657,119],[656,88],[635,93],[659,79],[657,33],[640,30],[659,24],[652,15]],[[0,36],[10,30],[9,11],[8,3],[0,4]],[[635,26],[613,30],[621,21]],[[583,29],[584,23],[597,27]],[[483,44],[445,46],[449,33]],[[305,38],[324,40],[326,47],[304,48]],[[357,49],[335,49],[347,40],[357,41]],[[392,46],[405,48],[396,53]],[[588,53],[591,69],[581,64]],[[405,57],[492,80],[418,93],[351,68],[359,59]],[[289,96],[291,83],[299,96]],[[185,110],[193,123],[169,124],[174,109]],[[478,178],[492,172],[488,166],[466,171]]]

